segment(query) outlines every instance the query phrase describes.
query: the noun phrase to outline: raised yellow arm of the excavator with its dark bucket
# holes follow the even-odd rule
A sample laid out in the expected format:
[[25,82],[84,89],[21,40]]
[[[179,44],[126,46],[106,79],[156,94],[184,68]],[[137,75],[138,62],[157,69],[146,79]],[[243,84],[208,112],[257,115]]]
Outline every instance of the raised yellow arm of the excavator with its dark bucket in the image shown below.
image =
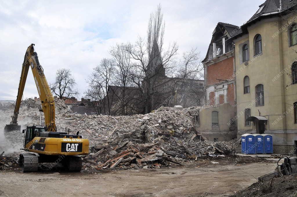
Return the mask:
[[38,61],[37,53],[34,50],[34,44],[31,44],[28,47],[24,57],[22,72],[20,76],[20,83],[18,88],[18,96],[15,103],[14,114],[12,115],[12,121],[10,122],[9,125],[5,126],[4,132],[16,130],[16,129],[20,130],[20,125],[18,125],[17,119],[18,119],[20,103],[22,101],[23,91],[25,88],[29,67],[31,67],[34,81],[35,81],[37,91],[40,97],[40,101],[42,104],[42,111],[44,113],[45,125],[47,127],[47,131],[56,131],[54,98],[50,91],[48,82],[45,79],[42,66]]

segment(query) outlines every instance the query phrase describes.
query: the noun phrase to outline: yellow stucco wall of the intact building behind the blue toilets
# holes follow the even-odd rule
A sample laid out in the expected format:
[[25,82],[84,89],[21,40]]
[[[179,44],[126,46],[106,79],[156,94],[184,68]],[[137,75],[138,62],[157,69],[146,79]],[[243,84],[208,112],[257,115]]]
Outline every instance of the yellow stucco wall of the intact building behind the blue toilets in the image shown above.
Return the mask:
[[[245,125],[245,109],[251,116],[267,119],[265,133],[274,136],[274,144],[294,144],[297,124],[293,104],[297,84],[292,84],[292,63],[297,61],[297,45],[290,46],[287,23],[297,23],[296,16],[266,18],[247,26],[247,32],[234,40],[238,136],[256,133],[256,125]],[[290,31],[290,28],[289,28]],[[262,53],[255,55],[255,36],[262,38]],[[248,46],[248,61],[243,61],[243,46]],[[249,77],[249,93],[244,93],[244,77]],[[264,105],[257,106],[256,86],[264,88]],[[260,112],[260,114],[259,114]]]

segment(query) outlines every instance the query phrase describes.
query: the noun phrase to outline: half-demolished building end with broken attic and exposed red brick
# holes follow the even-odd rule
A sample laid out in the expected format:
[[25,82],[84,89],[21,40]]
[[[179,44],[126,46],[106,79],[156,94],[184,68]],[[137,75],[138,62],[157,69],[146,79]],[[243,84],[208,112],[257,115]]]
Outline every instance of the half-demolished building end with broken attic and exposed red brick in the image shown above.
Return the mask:
[[205,109],[201,109],[199,131],[211,140],[236,138],[236,75],[233,41],[238,26],[219,22],[215,27],[206,57]]

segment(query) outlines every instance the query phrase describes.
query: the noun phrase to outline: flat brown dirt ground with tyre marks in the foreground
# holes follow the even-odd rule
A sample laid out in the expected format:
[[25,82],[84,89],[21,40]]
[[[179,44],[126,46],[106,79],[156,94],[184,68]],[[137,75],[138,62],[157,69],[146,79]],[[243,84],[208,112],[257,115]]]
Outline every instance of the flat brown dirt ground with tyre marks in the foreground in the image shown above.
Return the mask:
[[275,169],[276,163],[198,161],[161,169],[69,173],[0,172],[0,196],[229,196]]

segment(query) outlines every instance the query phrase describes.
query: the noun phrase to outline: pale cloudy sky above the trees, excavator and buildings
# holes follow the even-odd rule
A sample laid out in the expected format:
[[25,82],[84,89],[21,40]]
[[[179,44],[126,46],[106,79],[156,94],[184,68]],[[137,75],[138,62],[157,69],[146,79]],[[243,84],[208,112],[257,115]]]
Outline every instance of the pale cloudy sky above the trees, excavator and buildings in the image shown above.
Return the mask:
[[[15,100],[27,47],[35,44],[48,83],[60,68],[72,71],[80,97],[86,78],[116,43],[146,36],[149,14],[160,1],[0,0],[0,100]],[[182,54],[197,47],[204,58],[218,22],[241,26],[264,0],[161,1],[165,45]],[[31,69],[24,98],[38,96]]]

